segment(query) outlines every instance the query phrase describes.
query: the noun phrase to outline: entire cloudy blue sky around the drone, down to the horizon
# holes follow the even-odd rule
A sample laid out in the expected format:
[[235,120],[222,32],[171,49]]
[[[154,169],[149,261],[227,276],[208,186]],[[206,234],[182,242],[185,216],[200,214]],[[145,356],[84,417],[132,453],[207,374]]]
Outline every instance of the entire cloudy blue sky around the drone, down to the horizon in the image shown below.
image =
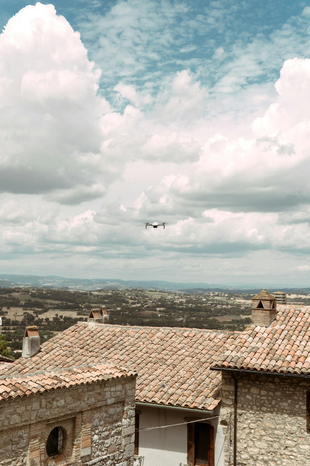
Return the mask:
[[0,22],[0,273],[310,286],[310,1]]

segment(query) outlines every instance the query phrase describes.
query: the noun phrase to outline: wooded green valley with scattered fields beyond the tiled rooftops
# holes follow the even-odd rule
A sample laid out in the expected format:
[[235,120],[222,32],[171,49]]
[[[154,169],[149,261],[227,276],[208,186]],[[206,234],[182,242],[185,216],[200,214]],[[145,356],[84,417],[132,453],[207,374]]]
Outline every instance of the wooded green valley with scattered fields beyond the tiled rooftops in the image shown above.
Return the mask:
[[[2,276],[7,280],[7,275]],[[28,284],[22,288],[7,280],[10,286],[0,288],[1,331],[14,357],[19,356],[25,326],[37,325],[41,338],[47,340],[76,322],[87,321],[90,310],[100,307],[106,308],[111,324],[243,331],[251,323],[251,298],[260,292],[259,288],[232,290],[211,285],[194,288],[208,285],[160,281],[139,281],[145,288],[125,288],[117,280],[113,281],[113,288],[89,291],[87,288],[94,288],[95,282],[106,287],[111,286],[111,281],[93,280],[92,285],[81,289],[80,283],[87,281],[79,280],[77,290],[43,286],[50,277],[15,275],[13,278]],[[74,282],[74,279],[63,280]],[[33,285],[41,283],[41,287],[30,286],[30,281]],[[151,284],[157,284],[158,289],[150,289]],[[159,288],[160,285],[171,289],[167,291]],[[281,291],[286,293],[288,304],[310,305],[310,288]]]

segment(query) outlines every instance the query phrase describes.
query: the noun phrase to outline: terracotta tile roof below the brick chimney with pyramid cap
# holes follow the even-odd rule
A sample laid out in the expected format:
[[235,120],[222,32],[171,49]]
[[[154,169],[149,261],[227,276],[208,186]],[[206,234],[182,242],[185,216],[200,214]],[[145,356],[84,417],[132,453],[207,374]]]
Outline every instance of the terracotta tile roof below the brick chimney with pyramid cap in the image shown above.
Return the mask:
[[250,325],[213,366],[310,374],[310,306],[280,306],[270,327]]

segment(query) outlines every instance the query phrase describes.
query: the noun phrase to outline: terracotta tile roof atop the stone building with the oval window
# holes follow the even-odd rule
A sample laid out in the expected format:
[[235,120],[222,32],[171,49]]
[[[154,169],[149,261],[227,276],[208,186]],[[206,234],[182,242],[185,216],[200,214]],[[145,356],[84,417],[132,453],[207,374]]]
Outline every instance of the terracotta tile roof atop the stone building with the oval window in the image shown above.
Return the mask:
[[[15,364],[11,364],[10,369],[13,369],[14,366]],[[2,366],[0,367],[0,401],[24,395],[28,396],[38,391],[42,393],[62,387],[68,388],[75,385],[85,385],[112,378],[136,375],[133,371],[118,368],[111,363],[68,367],[58,370],[29,371],[24,375],[20,372],[20,366],[15,367],[15,371],[10,370],[10,374],[7,373],[7,369],[8,366],[6,366],[5,370]]]

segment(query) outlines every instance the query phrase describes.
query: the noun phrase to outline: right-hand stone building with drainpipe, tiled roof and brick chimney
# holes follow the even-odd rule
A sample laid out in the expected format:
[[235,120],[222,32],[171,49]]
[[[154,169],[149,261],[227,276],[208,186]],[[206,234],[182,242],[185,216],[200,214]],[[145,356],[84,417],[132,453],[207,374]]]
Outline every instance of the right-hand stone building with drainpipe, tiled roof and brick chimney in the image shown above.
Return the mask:
[[263,290],[252,324],[219,354],[224,464],[310,466],[310,307]]

